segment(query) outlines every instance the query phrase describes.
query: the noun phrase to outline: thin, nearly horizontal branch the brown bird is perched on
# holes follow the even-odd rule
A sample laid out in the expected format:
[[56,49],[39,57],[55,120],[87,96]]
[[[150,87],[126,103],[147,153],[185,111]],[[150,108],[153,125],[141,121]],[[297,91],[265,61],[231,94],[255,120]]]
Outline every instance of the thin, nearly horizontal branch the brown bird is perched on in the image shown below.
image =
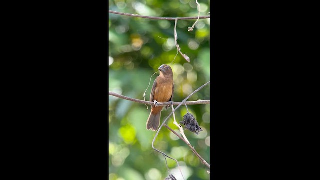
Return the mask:
[[[117,93],[111,92],[111,91],[109,91],[109,95],[112,95],[112,96],[115,96],[115,97],[119,97],[119,98],[122,98],[122,99],[125,99],[125,100],[130,100],[130,101],[133,101],[133,102],[154,105],[154,102],[126,97],[124,95],[120,95],[120,94],[117,94]],[[181,102],[173,102],[173,105],[179,105],[180,103]],[[210,104],[210,100],[188,101],[188,102],[185,102],[185,103],[187,105]],[[158,106],[165,106],[165,105],[171,105],[171,103],[170,102],[158,102]]]

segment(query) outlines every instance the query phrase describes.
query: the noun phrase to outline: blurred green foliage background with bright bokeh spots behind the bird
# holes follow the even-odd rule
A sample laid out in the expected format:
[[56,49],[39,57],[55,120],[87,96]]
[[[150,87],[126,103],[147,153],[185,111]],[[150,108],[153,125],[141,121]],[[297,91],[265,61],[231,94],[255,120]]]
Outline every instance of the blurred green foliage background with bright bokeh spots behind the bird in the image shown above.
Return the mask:
[[[200,0],[200,15],[209,15],[210,1]],[[158,17],[193,17],[198,15],[195,0],[109,0],[109,10]],[[151,75],[161,64],[173,69],[174,98],[178,102],[210,80],[210,19],[179,20],[178,44],[190,57],[188,63],[177,53],[174,43],[174,21],[152,20],[109,13],[109,91],[143,100]],[[152,76],[145,95],[149,100]],[[210,100],[210,85],[195,93],[188,101]],[[176,107],[176,106],[175,106]],[[147,131],[150,113],[146,105],[109,95],[109,179],[164,179],[168,171],[164,157],[152,149],[156,132]],[[189,105],[203,129],[198,135],[185,130],[195,150],[210,163],[210,104]],[[162,111],[161,123],[171,113]],[[177,122],[187,113],[185,106],[176,111]],[[173,117],[168,126],[178,132]],[[184,125],[182,125],[184,126]],[[179,133],[179,132],[178,132]],[[191,149],[172,132],[163,127],[154,146],[177,159],[186,179],[209,179],[208,168]],[[167,158],[170,173],[182,179],[175,161]]]

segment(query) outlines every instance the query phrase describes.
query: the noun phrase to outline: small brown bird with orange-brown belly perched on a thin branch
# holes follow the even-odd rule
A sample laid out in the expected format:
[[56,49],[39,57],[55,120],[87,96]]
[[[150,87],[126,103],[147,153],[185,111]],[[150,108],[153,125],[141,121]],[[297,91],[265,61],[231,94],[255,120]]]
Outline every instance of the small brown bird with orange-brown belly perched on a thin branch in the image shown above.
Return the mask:
[[[170,66],[163,64],[159,68],[160,75],[154,80],[150,101],[154,101],[151,113],[146,121],[146,129],[156,131],[160,125],[161,110],[163,106],[157,106],[157,102],[169,102],[173,99],[173,72]],[[165,109],[170,105],[165,106]]]

